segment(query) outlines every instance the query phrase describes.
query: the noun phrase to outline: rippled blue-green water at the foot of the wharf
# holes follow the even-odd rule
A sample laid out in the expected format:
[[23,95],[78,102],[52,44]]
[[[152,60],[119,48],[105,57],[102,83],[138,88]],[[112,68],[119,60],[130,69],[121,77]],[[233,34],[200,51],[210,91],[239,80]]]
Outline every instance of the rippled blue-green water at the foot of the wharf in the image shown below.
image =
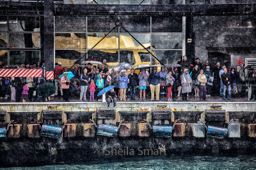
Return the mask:
[[256,169],[256,157],[168,157],[166,159],[129,160],[99,164],[58,164],[5,169]]

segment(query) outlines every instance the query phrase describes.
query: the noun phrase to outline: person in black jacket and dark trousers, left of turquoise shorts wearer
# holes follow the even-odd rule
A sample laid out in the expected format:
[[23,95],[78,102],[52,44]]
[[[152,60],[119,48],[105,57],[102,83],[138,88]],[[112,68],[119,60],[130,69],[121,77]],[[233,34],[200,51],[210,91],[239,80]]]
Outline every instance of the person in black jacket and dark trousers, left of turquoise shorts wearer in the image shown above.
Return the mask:
[[138,74],[134,73],[134,69],[131,69],[131,74],[129,74],[128,79],[131,92],[131,101],[135,101],[136,87],[139,85],[139,78]]

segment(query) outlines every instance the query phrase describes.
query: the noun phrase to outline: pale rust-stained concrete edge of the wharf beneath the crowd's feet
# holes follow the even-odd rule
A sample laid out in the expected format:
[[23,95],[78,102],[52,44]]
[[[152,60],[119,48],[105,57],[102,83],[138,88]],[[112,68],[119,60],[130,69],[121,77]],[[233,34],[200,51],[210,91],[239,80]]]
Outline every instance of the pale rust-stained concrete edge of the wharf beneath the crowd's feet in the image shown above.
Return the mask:
[[[112,108],[113,105],[111,105]],[[221,106],[226,111],[255,111],[256,104],[250,102],[118,102],[117,111],[205,111],[211,106]],[[96,111],[107,110],[107,103],[0,103],[0,111],[7,112],[40,112],[42,110],[63,110],[63,111]]]

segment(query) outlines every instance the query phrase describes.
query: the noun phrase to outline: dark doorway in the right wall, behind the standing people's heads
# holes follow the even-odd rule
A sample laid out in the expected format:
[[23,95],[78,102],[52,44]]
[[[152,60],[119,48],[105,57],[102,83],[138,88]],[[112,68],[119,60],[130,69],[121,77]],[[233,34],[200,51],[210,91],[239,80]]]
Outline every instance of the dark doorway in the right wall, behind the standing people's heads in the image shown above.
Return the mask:
[[227,53],[221,53],[221,52],[208,52],[208,60],[211,67],[216,66],[217,62],[220,62],[220,65],[225,65],[227,69],[230,68],[230,55]]

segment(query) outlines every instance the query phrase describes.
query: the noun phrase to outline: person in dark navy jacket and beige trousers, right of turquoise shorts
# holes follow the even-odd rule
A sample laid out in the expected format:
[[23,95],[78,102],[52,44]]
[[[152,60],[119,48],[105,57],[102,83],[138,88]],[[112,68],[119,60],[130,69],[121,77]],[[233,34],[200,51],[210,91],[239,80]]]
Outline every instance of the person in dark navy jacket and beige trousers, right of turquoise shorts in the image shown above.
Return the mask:
[[159,93],[160,93],[160,81],[161,78],[159,73],[157,73],[157,67],[153,67],[153,72],[149,74],[148,83],[151,92],[151,100],[154,101],[154,95],[156,92],[156,101],[159,101]]

